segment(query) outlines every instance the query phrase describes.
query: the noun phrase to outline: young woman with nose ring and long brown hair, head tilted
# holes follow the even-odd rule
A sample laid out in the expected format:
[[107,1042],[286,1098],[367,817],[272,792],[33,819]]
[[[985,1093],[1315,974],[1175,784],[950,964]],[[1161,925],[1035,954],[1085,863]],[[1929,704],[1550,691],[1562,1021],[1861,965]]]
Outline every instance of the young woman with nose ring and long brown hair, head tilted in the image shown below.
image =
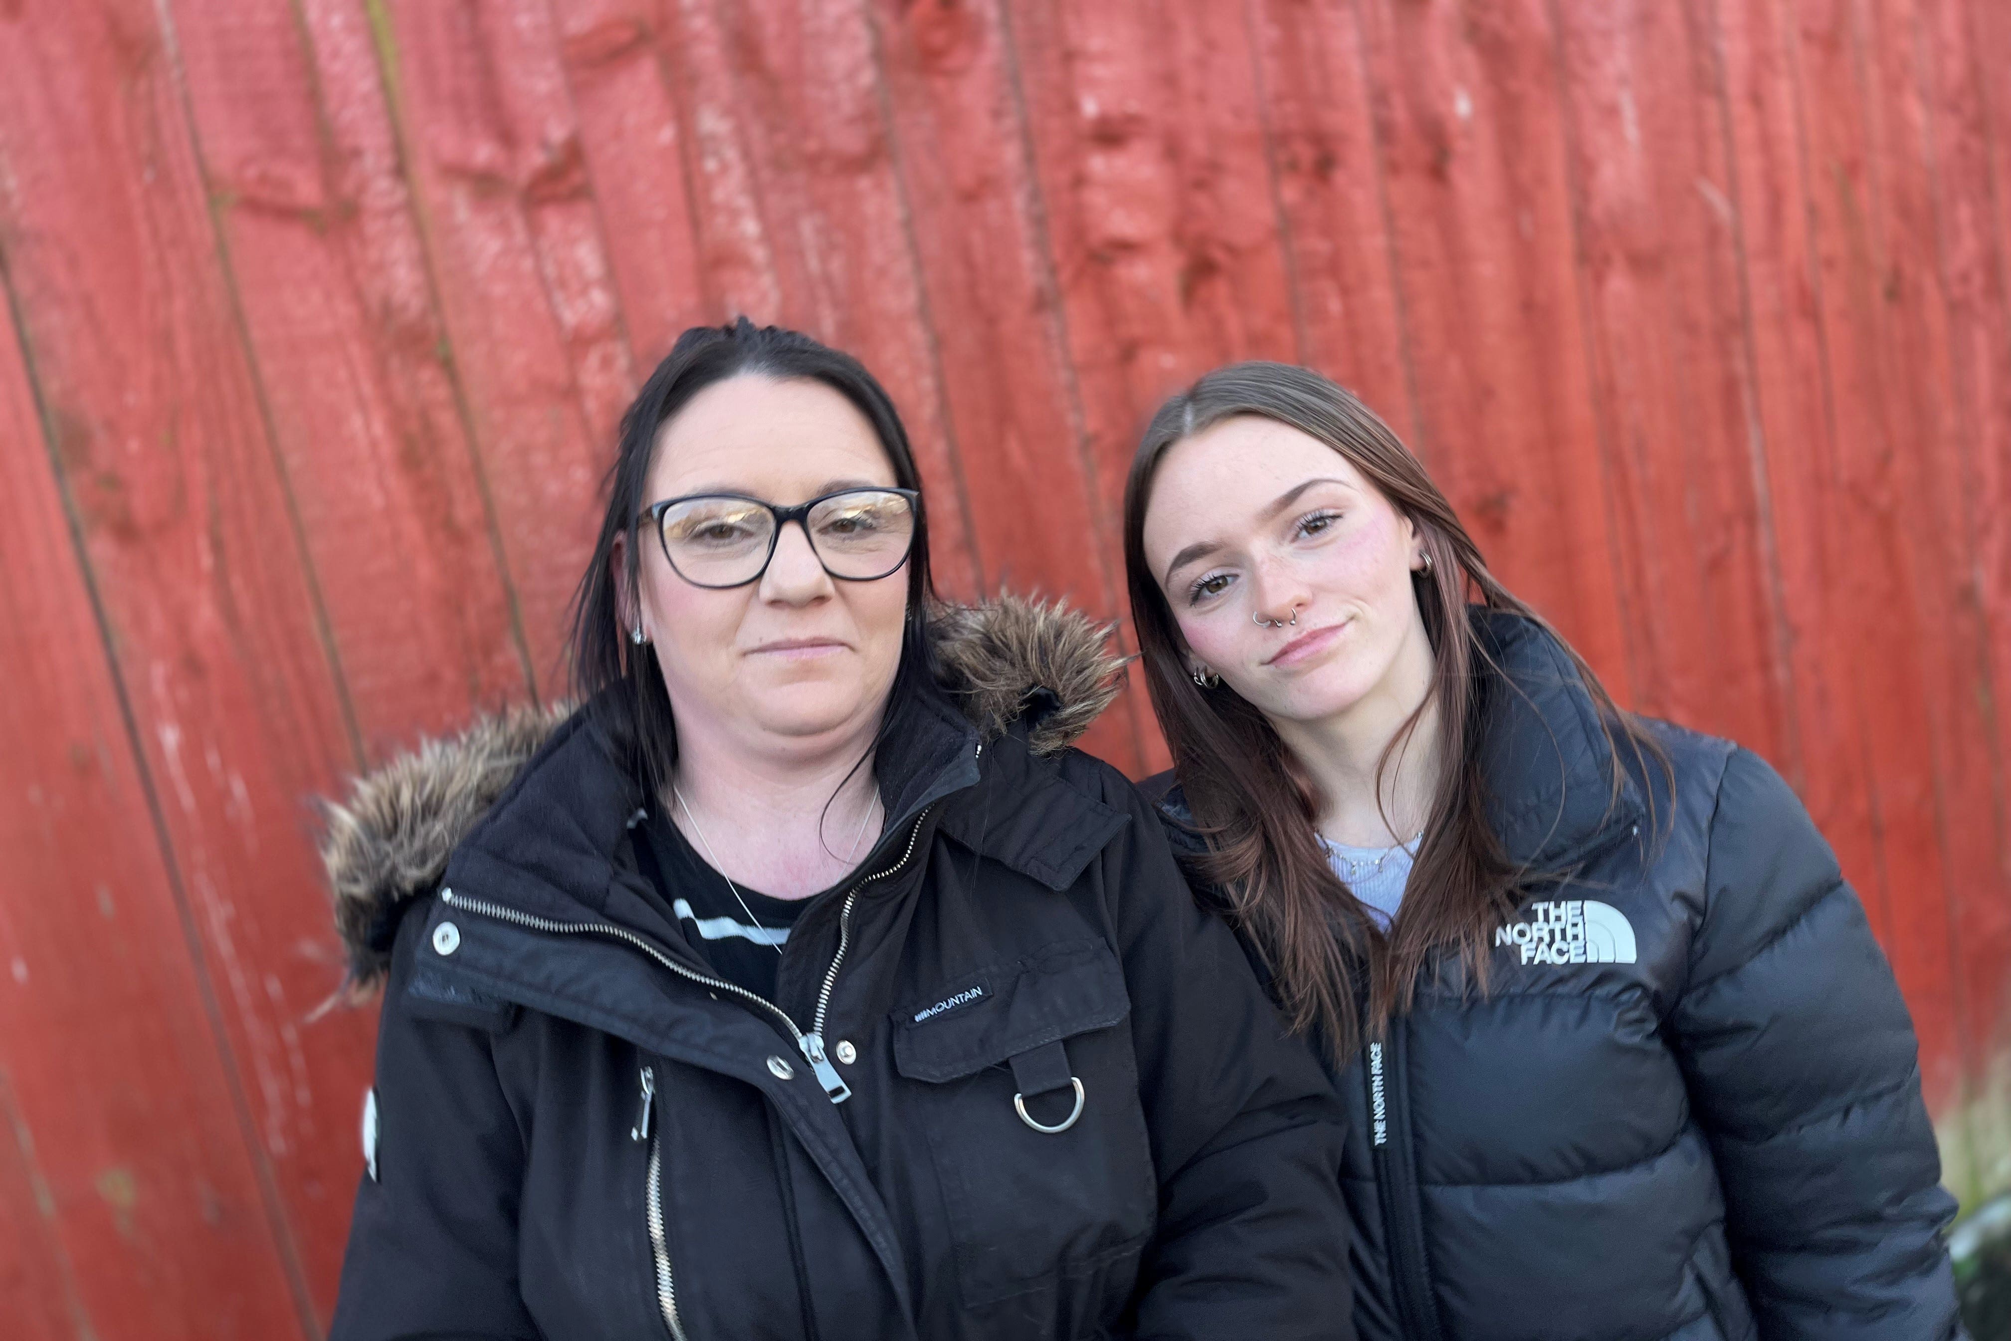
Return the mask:
[[1191,871],[1349,1106],[1363,1341],[1947,1341],[1912,1023],[1788,784],[1615,708],[1305,368],[1160,408],[1124,561]]

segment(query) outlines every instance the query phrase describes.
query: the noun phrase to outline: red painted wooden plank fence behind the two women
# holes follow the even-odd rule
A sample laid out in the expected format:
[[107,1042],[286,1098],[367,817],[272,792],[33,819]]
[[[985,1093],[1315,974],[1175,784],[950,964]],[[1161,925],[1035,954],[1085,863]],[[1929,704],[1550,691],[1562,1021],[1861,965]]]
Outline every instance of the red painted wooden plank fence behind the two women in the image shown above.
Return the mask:
[[6,0],[0,277],[8,1337],[322,1335],[308,798],[563,692],[613,420],[736,312],[893,388],[957,595],[1114,613],[1205,368],[1361,390],[1794,780],[2011,1184],[1999,0]]

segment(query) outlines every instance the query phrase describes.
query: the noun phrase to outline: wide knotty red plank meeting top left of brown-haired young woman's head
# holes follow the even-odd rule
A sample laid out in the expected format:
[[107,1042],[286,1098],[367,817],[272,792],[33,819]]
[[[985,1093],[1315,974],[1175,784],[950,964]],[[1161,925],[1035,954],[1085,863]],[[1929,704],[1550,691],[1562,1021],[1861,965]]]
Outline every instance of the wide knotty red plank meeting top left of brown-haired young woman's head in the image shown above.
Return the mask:
[[1241,6],[1012,0],[1008,36],[1100,495],[1219,364],[1297,360]]

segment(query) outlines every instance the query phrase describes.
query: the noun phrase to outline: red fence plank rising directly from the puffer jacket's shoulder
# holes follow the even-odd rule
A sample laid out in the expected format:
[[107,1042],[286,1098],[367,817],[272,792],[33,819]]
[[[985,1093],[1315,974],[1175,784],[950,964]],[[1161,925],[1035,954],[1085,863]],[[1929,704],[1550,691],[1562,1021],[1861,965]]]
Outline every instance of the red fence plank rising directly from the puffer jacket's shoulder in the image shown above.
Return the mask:
[[1653,0],[1552,14],[1635,696],[1798,776],[1709,30]]

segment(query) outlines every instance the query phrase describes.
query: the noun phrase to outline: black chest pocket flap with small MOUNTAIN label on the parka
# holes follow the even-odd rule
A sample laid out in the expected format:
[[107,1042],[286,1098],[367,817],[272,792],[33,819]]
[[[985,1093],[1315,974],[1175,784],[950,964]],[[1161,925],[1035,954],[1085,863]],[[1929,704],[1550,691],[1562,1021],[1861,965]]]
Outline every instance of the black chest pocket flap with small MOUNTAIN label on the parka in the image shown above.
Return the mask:
[[959,1080],[1130,1015],[1106,941],[1056,941],[945,979],[939,999],[895,1011],[893,1060],[909,1080]]

